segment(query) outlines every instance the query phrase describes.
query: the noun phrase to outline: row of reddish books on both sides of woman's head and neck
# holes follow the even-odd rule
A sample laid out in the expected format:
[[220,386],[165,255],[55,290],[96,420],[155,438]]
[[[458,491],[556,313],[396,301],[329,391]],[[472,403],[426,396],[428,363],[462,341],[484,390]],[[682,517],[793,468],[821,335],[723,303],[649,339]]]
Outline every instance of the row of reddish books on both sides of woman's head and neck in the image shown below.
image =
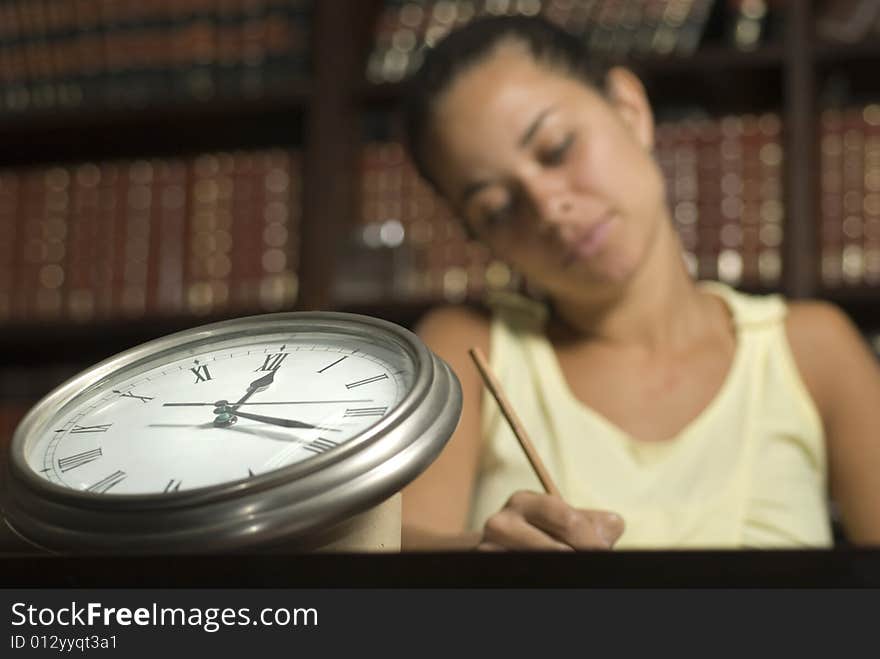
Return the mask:
[[[774,288],[784,238],[781,122],[775,114],[689,119],[657,128],[685,262],[700,279]],[[521,278],[468,240],[395,141],[367,143],[360,226],[336,286],[343,301],[480,298]]]

